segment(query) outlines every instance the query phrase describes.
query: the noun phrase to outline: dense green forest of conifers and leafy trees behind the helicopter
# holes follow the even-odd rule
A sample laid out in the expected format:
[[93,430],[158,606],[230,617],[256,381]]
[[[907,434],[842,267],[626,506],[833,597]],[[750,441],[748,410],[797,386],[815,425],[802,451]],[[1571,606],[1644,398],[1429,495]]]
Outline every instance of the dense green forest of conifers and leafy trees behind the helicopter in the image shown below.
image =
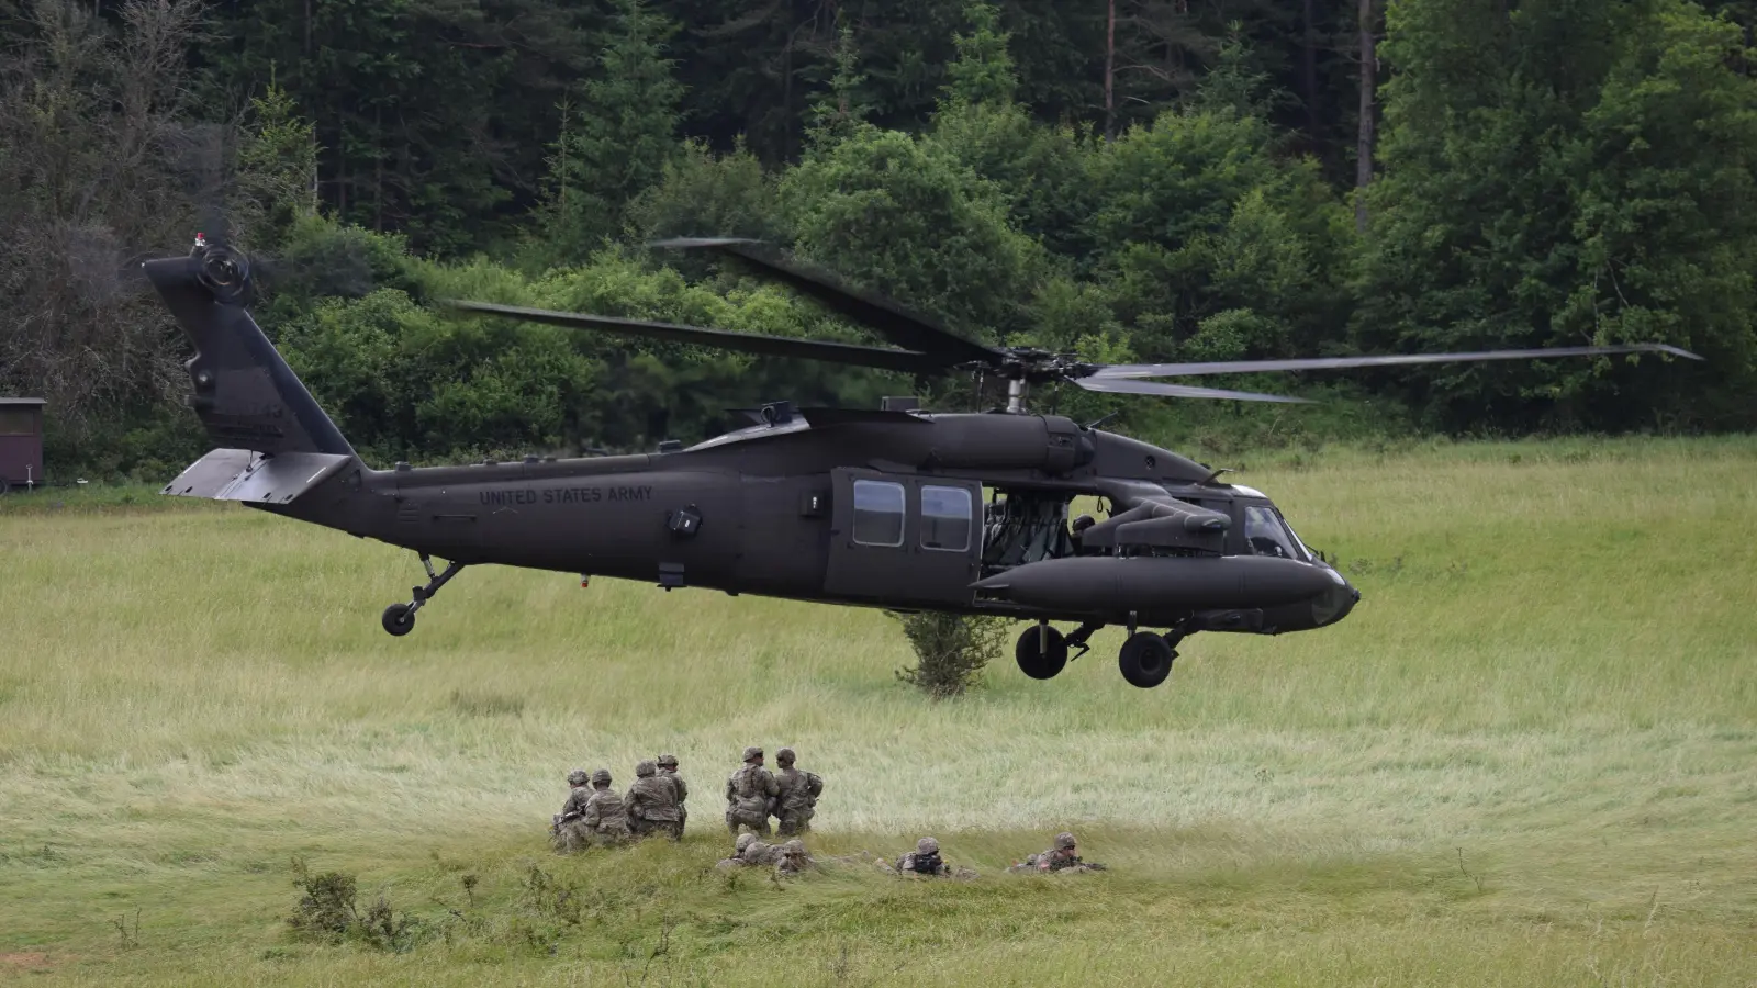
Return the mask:
[[1211,378],[1323,399],[1297,413],[1037,397],[1146,438],[1752,429],[1753,26],[1750,0],[0,0],[0,394],[49,399],[51,475],[204,452],[139,262],[223,218],[374,466],[694,441],[756,401],[996,404],[436,304],[870,341],[669,236],[1088,360],[1704,357]]

